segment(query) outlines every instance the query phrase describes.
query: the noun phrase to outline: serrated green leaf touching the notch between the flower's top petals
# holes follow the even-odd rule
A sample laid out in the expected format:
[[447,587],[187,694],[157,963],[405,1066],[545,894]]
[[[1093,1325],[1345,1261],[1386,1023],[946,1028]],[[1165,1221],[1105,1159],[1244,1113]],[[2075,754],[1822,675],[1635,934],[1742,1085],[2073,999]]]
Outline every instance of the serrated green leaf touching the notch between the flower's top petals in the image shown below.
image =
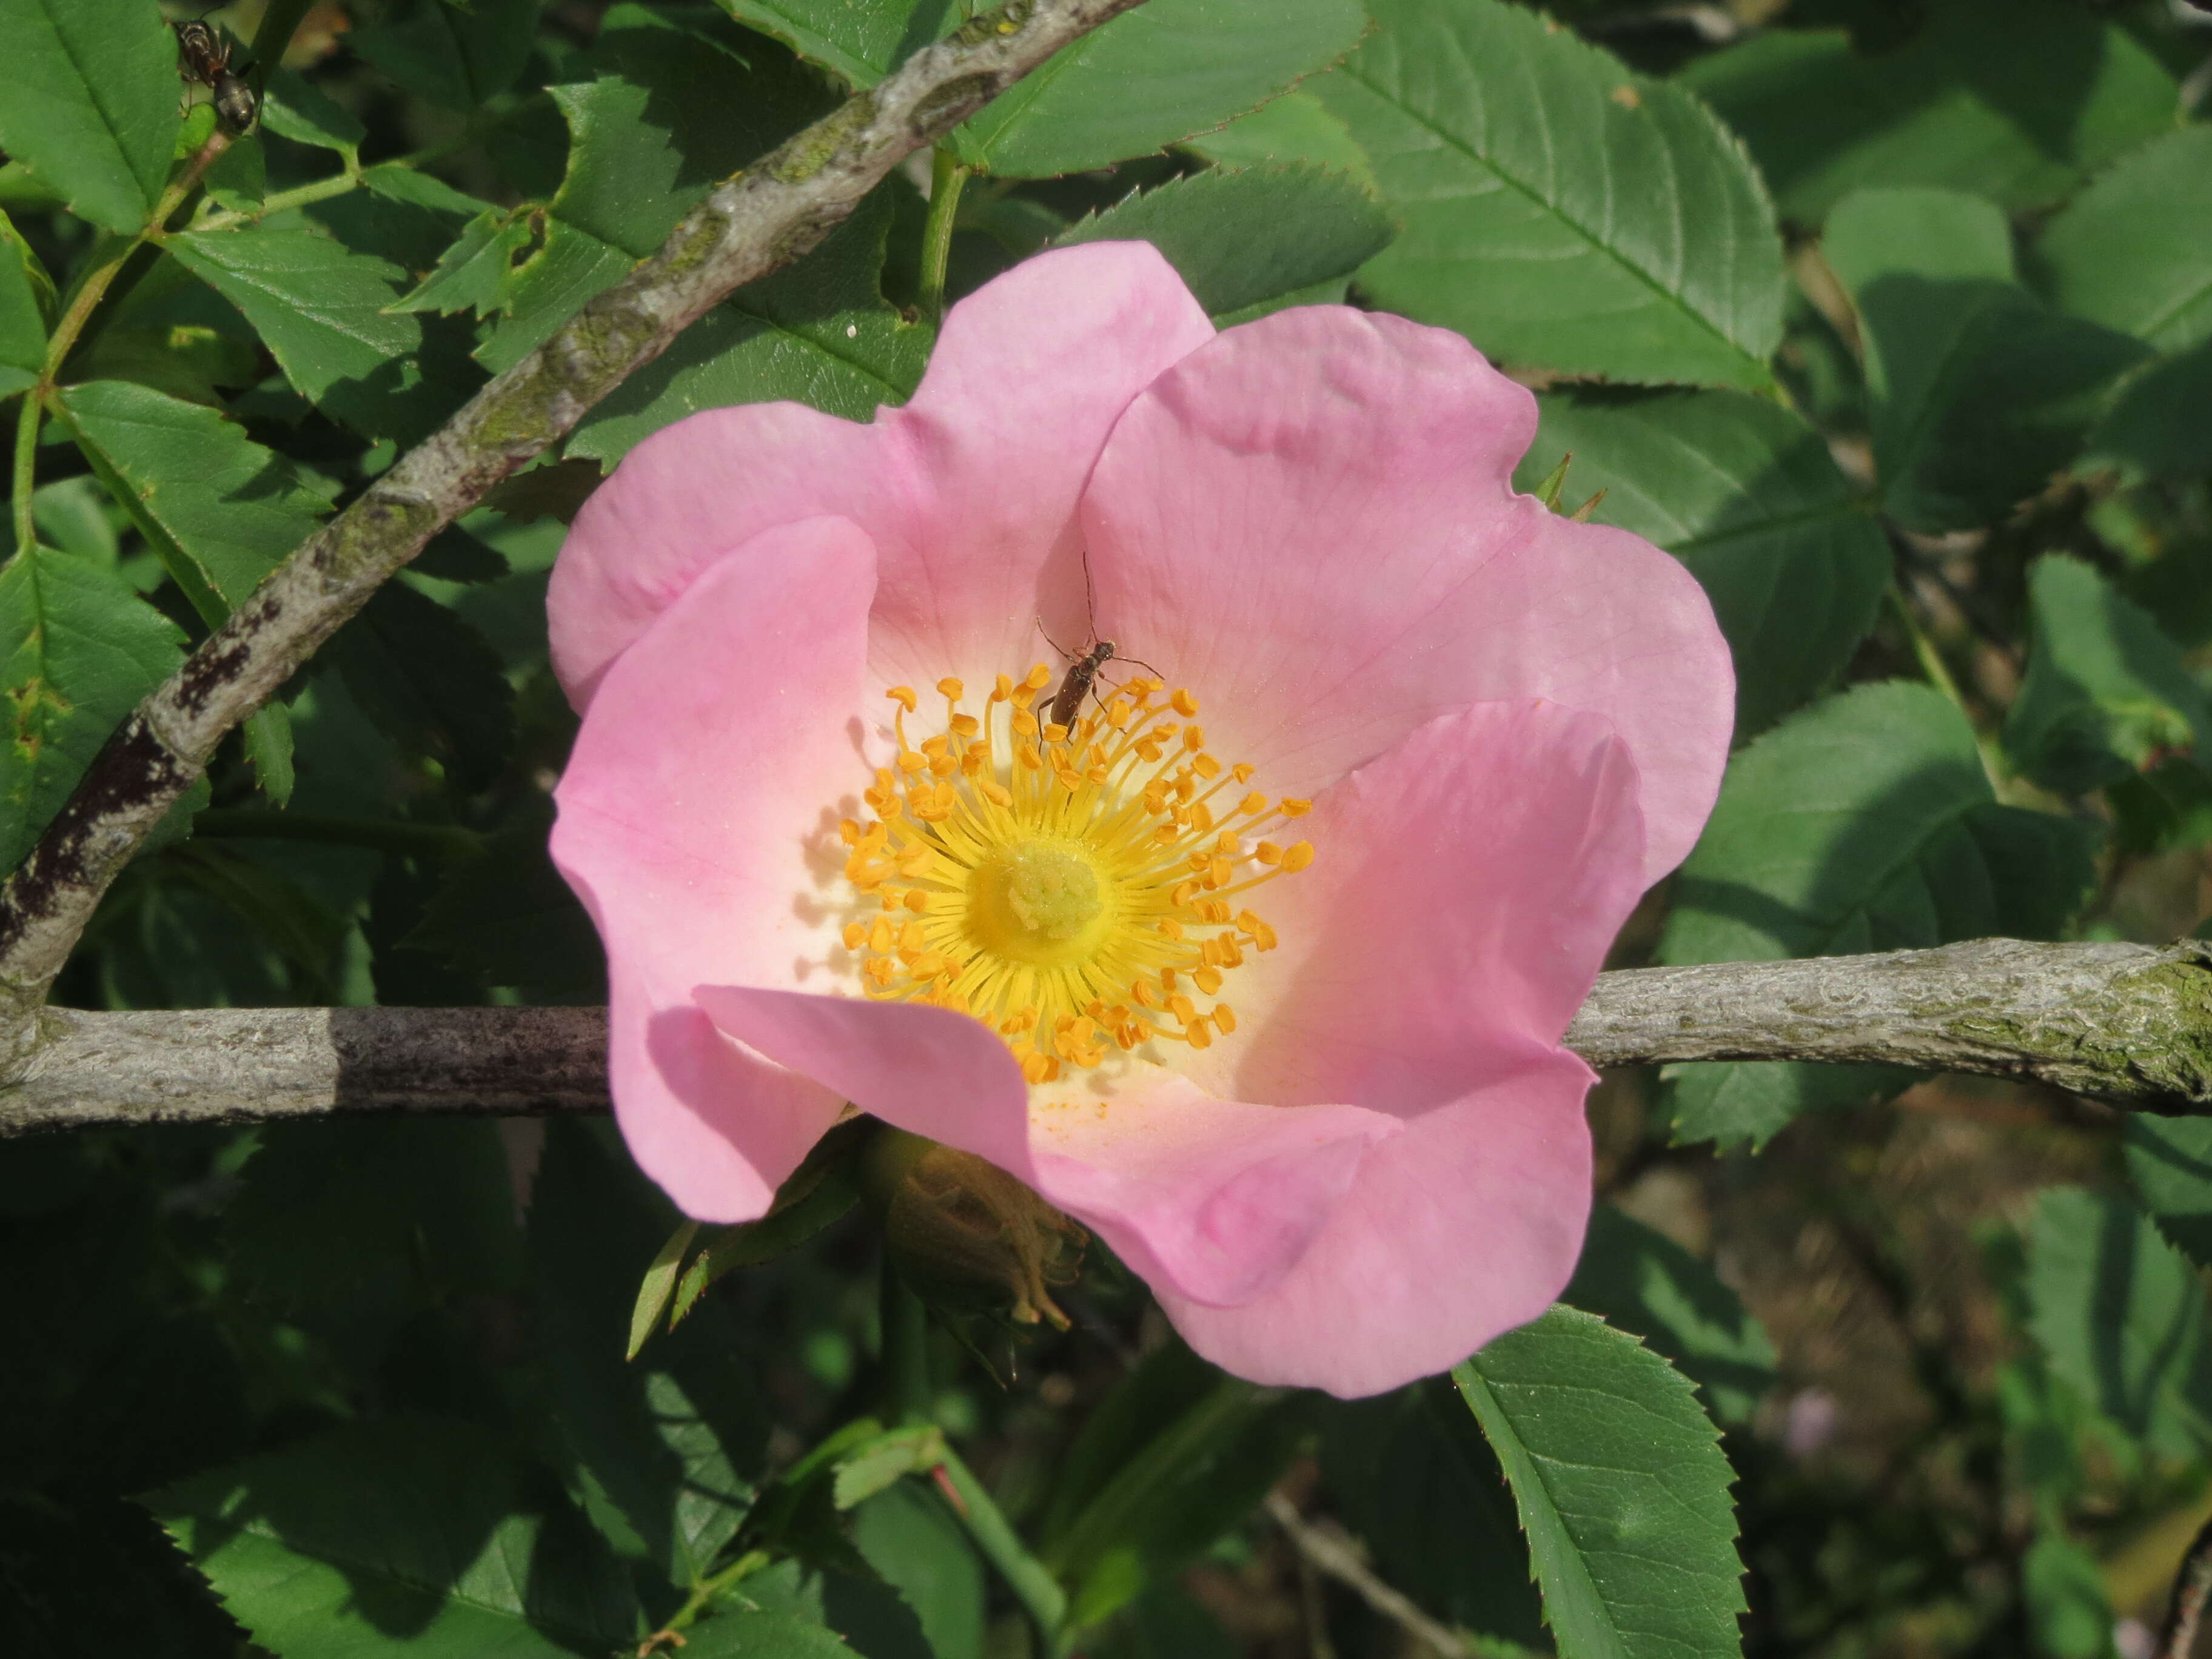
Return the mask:
[[1314,166],[1197,173],[1130,195],[1068,226],[1079,241],[1148,241],[1214,319],[1263,316],[1305,288],[1349,276],[1391,239],[1391,221],[1354,179]]

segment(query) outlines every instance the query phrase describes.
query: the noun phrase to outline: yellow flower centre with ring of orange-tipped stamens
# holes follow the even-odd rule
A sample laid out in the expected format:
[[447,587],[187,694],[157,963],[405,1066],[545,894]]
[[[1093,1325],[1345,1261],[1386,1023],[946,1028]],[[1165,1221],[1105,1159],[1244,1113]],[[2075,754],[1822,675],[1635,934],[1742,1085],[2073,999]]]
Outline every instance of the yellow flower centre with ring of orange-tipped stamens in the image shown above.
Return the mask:
[[1312,803],[1245,790],[1250,765],[1206,752],[1197,697],[1130,679],[1073,726],[1040,723],[1051,681],[1044,664],[1000,675],[978,719],[940,679],[945,730],[920,743],[920,699],[894,686],[898,763],[867,790],[876,816],[838,825],[847,878],[880,907],[845,925],[867,995],[975,1015],[1031,1084],[1234,1031],[1221,980],[1276,942],[1237,900],[1314,860],[1259,838]]

